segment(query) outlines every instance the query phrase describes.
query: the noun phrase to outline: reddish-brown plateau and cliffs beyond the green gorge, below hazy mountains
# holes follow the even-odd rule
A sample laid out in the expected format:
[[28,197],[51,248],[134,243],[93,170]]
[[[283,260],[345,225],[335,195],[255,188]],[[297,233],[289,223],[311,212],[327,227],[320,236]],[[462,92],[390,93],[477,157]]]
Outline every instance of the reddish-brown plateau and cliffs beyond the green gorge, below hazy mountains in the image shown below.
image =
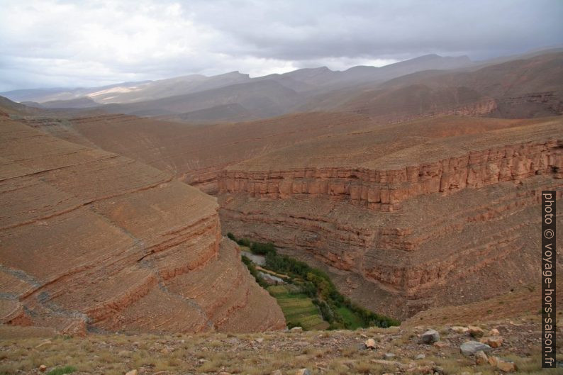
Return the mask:
[[217,196],[223,234],[274,242],[401,319],[534,282],[539,192],[563,187],[559,117],[303,113],[189,136],[133,116],[28,123]]

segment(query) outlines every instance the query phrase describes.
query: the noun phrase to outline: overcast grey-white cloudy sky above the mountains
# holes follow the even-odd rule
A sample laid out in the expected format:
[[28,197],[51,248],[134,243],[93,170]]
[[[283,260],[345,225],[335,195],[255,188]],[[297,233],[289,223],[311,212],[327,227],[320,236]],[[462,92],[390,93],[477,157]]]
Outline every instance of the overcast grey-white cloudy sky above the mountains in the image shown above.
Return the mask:
[[563,45],[563,0],[0,0],[0,91]]

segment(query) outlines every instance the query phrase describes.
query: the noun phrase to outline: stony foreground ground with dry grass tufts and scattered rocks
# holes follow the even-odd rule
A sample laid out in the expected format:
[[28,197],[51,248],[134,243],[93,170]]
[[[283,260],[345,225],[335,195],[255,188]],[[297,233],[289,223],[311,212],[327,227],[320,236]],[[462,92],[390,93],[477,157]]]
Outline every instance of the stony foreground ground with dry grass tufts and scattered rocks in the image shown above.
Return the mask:
[[[540,369],[539,319],[539,315],[528,315],[479,324],[482,337],[478,328],[471,328],[472,337],[467,325],[87,337],[0,326],[0,374],[40,374],[41,365],[46,374],[62,366],[74,367],[74,374],[106,375],[129,371],[139,375],[306,374],[306,370],[311,374],[486,375],[502,374],[501,368],[520,374],[561,374],[562,369]],[[429,329],[440,338],[425,344],[423,337]],[[559,328],[559,342],[561,333]],[[479,340],[492,346],[487,358],[460,352],[464,342]],[[557,359],[563,361],[560,346]]]

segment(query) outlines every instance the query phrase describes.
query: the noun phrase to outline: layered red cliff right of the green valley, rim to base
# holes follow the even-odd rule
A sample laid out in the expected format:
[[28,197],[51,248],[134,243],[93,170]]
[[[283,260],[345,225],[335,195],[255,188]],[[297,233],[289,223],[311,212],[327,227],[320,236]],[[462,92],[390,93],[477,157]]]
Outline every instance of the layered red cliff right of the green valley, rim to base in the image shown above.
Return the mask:
[[221,174],[221,221],[316,262],[391,315],[479,301],[537,279],[540,193],[563,196],[562,129],[437,138],[355,168],[277,169],[284,149]]

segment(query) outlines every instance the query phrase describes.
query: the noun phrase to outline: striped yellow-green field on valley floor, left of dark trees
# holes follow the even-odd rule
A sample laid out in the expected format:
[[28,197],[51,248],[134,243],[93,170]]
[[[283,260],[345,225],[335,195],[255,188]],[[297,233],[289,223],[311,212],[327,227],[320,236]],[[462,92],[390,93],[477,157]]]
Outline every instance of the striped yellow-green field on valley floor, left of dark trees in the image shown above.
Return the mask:
[[303,330],[325,330],[328,323],[323,320],[317,306],[303,293],[291,293],[291,286],[269,286],[268,291],[276,298],[282,308],[288,325],[302,327]]

